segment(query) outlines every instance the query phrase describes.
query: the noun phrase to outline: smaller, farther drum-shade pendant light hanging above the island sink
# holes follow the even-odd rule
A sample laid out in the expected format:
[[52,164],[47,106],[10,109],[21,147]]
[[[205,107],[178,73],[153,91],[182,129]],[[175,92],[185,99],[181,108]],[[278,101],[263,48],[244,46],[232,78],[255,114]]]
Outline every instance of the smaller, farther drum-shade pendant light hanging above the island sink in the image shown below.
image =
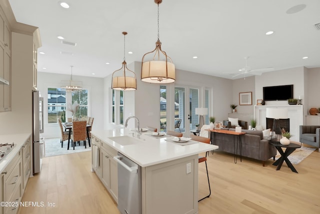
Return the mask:
[[111,88],[115,90],[136,90],[135,73],[133,71],[130,71],[126,67],[126,62],[125,62],[125,35],[127,35],[127,33],[122,32],[122,34],[124,38],[122,67],[119,70],[116,70],[112,73]]

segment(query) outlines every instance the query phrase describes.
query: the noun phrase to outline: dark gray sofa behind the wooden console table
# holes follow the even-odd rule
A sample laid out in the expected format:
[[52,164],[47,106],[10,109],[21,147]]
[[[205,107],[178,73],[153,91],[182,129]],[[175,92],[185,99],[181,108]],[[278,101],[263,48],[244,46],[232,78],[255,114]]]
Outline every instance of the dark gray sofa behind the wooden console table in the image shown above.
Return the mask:
[[[228,130],[233,130],[233,128],[224,128]],[[246,134],[241,136],[242,141],[242,156],[253,158],[256,160],[262,160],[262,165],[266,160],[271,157],[275,157],[276,149],[274,146],[269,144],[269,140],[263,139],[262,131],[253,131],[242,129],[242,132]],[[215,135],[214,135],[215,134]],[[219,151],[224,151],[228,153],[234,154],[233,147],[233,135],[230,134],[222,134],[222,133],[214,133],[210,132],[210,139],[212,144],[219,146]],[[213,139],[214,136],[214,139]],[[235,138],[235,143],[236,143]],[[237,154],[240,154],[239,147]]]

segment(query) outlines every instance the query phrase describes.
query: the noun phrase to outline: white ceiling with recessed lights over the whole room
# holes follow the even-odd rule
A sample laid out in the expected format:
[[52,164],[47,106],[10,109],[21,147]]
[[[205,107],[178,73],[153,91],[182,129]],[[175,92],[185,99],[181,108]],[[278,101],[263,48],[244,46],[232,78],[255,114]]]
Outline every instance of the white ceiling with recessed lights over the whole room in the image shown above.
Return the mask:
[[[69,9],[61,8],[58,0],[9,0],[17,22],[39,28],[38,52],[45,55],[38,54],[38,71],[70,74],[73,65],[73,75],[105,77],[121,67],[123,31],[128,33],[127,64],[141,61],[155,48],[153,0],[64,2]],[[306,6],[302,11],[287,13],[301,4]],[[163,0],[159,5],[162,50],[176,69],[229,79],[234,74],[225,73],[238,72],[245,57],[251,69],[320,67],[320,30],[313,26],[320,23],[319,9],[319,0]],[[274,34],[266,36],[267,31]],[[77,45],[61,44],[57,36]],[[302,59],[305,56],[308,59]]]

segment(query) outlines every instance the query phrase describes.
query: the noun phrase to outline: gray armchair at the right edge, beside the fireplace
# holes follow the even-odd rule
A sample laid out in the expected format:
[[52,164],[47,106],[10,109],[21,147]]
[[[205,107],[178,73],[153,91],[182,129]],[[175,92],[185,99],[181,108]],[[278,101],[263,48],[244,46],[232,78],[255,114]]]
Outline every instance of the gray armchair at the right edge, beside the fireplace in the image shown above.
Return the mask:
[[315,146],[320,152],[320,126],[300,125],[300,142]]

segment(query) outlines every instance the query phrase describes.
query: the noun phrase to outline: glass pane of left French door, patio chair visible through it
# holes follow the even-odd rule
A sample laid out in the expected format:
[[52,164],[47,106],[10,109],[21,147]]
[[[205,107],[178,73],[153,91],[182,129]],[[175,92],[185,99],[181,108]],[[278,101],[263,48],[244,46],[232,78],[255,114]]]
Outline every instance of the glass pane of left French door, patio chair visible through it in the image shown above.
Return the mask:
[[[184,132],[185,127],[185,89],[180,87],[174,87],[174,119],[181,119],[180,126],[174,127],[175,131]],[[176,120],[174,121],[176,122]]]

